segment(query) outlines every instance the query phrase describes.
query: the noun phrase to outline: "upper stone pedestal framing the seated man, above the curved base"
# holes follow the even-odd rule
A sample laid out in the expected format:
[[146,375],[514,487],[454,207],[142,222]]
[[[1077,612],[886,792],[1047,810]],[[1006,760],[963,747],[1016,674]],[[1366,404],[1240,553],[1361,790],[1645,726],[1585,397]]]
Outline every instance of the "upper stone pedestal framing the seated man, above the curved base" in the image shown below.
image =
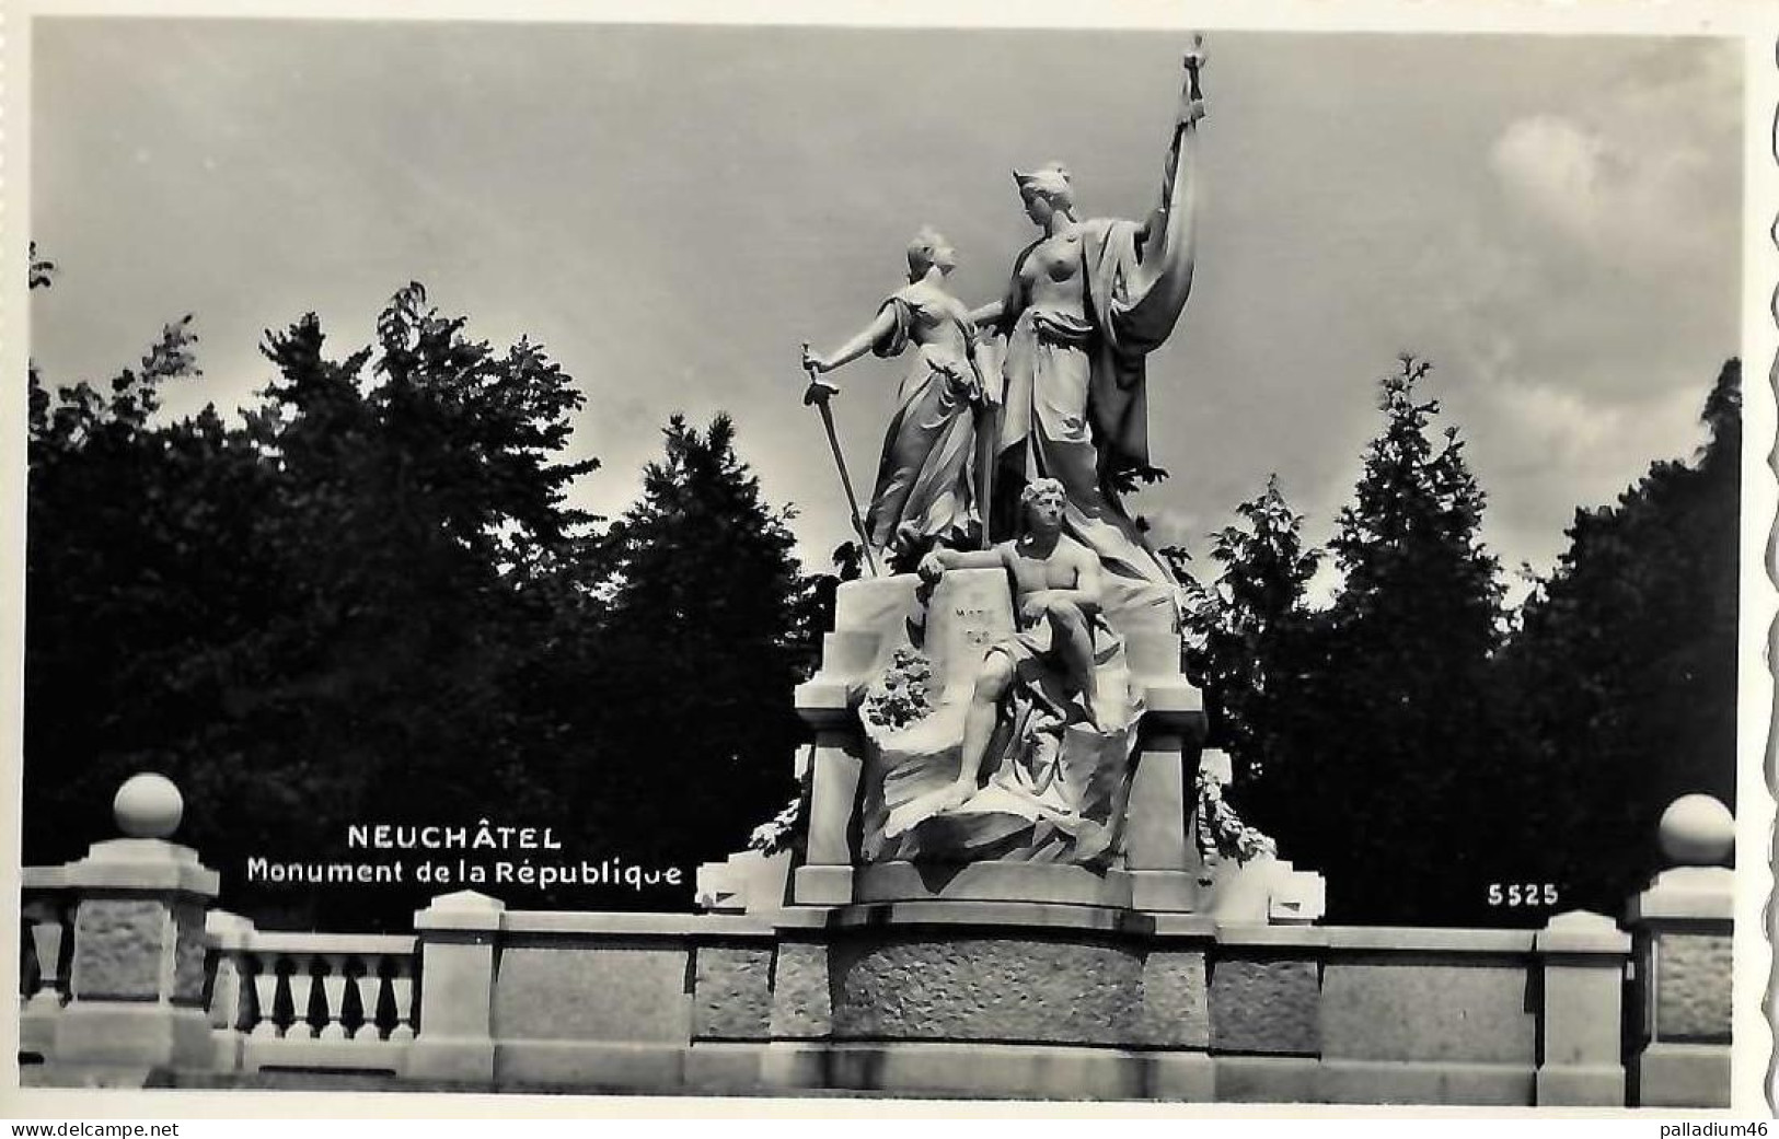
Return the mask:
[[[971,862],[943,856],[873,860],[870,835],[882,826],[884,771],[873,768],[859,702],[897,650],[918,647],[930,661],[929,716],[955,713],[991,645],[1010,634],[1007,576],[950,570],[925,602],[913,574],[850,581],[834,604],[834,633],[822,668],[797,688],[797,711],[815,729],[809,768],[808,842],[792,871],[792,906],[904,901],[1032,901],[1112,906],[1137,913],[1199,913],[1229,920],[1302,924],[1322,915],[1322,881],[1290,864],[1206,865],[1194,837],[1203,771],[1229,782],[1229,761],[1201,753],[1204,711],[1179,668],[1172,599],[1153,585],[1112,581],[1103,617],[1123,645],[1140,705],[1123,791],[1110,823],[1108,856],[1092,865],[1021,862],[1019,855]],[[955,759],[952,761],[955,769]],[[875,807],[873,807],[875,803]],[[715,872],[715,865],[713,865]],[[1228,896],[1219,906],[1217,897]],[[717,906],[744,908],[756,906]]]

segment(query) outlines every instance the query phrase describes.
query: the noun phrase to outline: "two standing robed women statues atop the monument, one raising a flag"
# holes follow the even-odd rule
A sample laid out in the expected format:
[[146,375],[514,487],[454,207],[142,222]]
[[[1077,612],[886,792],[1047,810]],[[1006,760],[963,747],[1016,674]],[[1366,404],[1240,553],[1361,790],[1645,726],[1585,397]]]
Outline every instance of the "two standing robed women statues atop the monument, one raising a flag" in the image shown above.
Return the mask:
[[804,345],[806,402],[831,398],[838,389],[820,377],[866,352],[913,350],[861,528],[872,554],[911,570],[934,547],[1009,537],[1023,487],[1055,478],[1064,531],[1107,572],[1174,585],[1121,490],[1155,473],[1144,357],[1192,290],[1201,62],[1194,46],[1160,203],[1144,222],[1076,217],[1060,163],[1016,171],[1041,233],[1014,258],[1002,299],[971,309],[952,295],[957,254],[925,227],[907,249],[909,283],[868,327],[825,355]]

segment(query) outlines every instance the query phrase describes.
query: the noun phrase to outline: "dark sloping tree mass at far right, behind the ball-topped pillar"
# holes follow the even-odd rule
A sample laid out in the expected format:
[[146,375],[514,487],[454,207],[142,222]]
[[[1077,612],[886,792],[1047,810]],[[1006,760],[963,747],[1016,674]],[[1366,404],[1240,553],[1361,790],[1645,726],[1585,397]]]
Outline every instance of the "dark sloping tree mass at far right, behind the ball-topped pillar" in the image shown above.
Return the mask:
[[1610,910],[1660,869],[1674,798],[1736,803],[1740,361],[1701,419],[1694,462],[1651,464],[1615,505],[1576,510],[1503,663],[1535,741],[1532,826],[1574,904]]

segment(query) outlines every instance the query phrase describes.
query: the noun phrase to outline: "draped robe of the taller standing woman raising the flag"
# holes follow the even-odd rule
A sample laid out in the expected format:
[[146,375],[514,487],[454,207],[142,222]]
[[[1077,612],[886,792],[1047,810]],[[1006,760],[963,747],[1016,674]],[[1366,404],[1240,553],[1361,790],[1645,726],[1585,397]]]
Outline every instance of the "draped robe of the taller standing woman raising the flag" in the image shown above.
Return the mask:
[[1163,247],[1162,265],[1144,265],[1139,231],[1130,220],[1082,222],[1087,316],[1035,306],[1014,322],[1002,364],[994,498],[998,512],[1016,512],[1026,482],[1059,480],[1067,494],[1064,531],[1099,554],[1108,574],[1174,588],[1108,483],[1119,471],[1149,466],[1144,357],[1185,307],[1181,267],[1167,263],[1176,251]]

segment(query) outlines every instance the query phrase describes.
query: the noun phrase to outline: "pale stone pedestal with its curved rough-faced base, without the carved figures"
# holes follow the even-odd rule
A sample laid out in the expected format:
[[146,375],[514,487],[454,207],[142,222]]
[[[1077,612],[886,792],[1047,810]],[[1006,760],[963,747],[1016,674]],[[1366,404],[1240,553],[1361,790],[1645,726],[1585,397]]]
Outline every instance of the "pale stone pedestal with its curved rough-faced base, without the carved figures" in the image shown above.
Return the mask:
[[[955,778],[959,741],[945,732],[962,730],[959,700],[989,649],[1010,636],[1009,599],[1002,570],[950,570],[925,604],[913,576],[840,588],[822,670],[797,689],[797,711],[815,729],[802,864],[767,904],[744,901],[770,892],[737,885],[737,860],[706,874],[719,901],[712,908],[738,915],[726,920],[760,922],[770,936],[770,968],[761,970],[770,1011],[749,1029],[761,1038],[760,1086],[1211,1100],[1210,963],[1231,928],[1281,935],[1288,945],[1268,942],[1256,984],[1222,993],[1229,1024],[1268,1024],[1277,983],[1290,983],[1299,1002],[1304,984],[1315,995],[1315,960],[1276,958],[1315,933],[1277,926],[1320,917],[1320,878],[1272,858],[1238,867],[1201,855],[1201,769],[1226,784],[1229,762],[1201,753],[1203,705],[1179,670],[1172,599],[1155,586],[1112,585],[1103,609],[1119,641],[1108,641],[1105,659],[1115,665],[1096,681],[1126,689],[1126,716],[1140,713],[1119,721],[1119,746],[1096,752],[1091,771],[1069,768],[1066,739],[1041,771],[1094,787],[1098,798],[1076,800],[1073,810],[1067,800],[1042,800],[1039,810],[1051,814],[1039,814],[1037,828],[1050,830],[1021,842],[1009,824],[1014,840],[998,848],[1000,858],[943,842],[897,856],[909,849],[897,839],[907,832],[888,817],[918,796],[907,784],[893,796],[886,787]],[[886,675],[898,650],[898,672]],[[925,661],[911,665],[911,650]],[[930,684],[911,697],[922,677]],[[895,700],[886,698],[891,689]],[[897,714],[882,716],[886,705]],[[1082,725],[1069,720],[1062,734],[1075,730]],[[927,732],[918,748],[890,743],[914,732]],[[939,769],[945,762],[950,771]],[[914,775],[907,764],[918,764]],[[984,778],[984,798],[1005,791],[989,768]],[[1035,785],[1034,796],[1048,789]],[[970,816],[971,803],[957,814]],[[957,832],[968,839],[970,826]],[[1098,848],[1057,839],[1091,826],[1103,828]],[[1247,947],[1240,936],[1231,945],[1240,972],[1251,965]],[[712,1043],[720,1041],[696,1038],[694,1052]],[[1281,1087],[1300,1095],[1308,1084]]]

